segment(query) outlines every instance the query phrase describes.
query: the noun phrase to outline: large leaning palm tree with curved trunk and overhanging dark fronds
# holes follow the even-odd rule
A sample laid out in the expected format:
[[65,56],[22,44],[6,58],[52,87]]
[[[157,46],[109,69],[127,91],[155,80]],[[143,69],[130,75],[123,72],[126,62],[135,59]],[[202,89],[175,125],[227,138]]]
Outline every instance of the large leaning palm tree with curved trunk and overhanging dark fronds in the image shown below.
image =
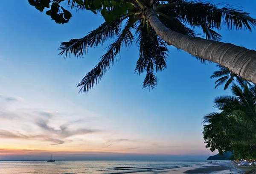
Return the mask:
[[[52,2],[60,3],[61,1],[64,0]],[[99,64],[77,85],[80,87],[80,92],[88,92],[98,84],[110,65],[113,65],[121,47],[124,45],[128,49],[134,42],[140,49],[135,71],[138,74],[146,72],[143,88],[154,89],[157,86],[155,74],[166,68],[167,45],[182,49],[202,61],[221,64],[234,74],[256,84],[256,52],[233,44],[218,42],[221,35],[215,32],[222,26],[228,29],[251,31],[251,27],[256,26],[256,20],[248,13],[225,4],[198,0],[123,0],[117,8],[111,6],[115,1],[105,0],[105,5],[99,3],[100,0],[94,1],[68,0],[71,9],[93,11],[94,8],[93,12],[101,12],[106,22],[84,38],[63,42],[59,48],[60,54],[65,57],[71,54],[81,57],[87,53],[89,47],[99,46],[109,39],[116,39],[107,47]],[[92,2],[93,6],[88,6],[88,3]],[[129,8],[127,8],[128,5]],[[224,6],[220,8],[221,5]],[[64,9],[63,11],[61,15],[64,14],[65,17],[67,12]],[[52,15],[52,11],[47,12],[48,15]],[[67,15],[68,19],[70,15]],[[55,16],[55,21],[59,16]],[[110,18],[113,20],[109,20]],[[64,20],[63,23],[67,21]],[[61,20],[58,20],[58,23],[61,23]],[[206,39],[199,38],[200,35],[193,30],[195,28],[201,28]],[[135,35],[132,31],[135,31]]]

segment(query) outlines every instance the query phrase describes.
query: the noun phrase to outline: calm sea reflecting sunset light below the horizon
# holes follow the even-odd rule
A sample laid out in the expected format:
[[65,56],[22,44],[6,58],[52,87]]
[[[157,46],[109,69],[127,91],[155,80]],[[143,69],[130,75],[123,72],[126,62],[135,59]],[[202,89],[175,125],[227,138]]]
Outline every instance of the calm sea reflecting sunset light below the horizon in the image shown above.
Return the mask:
[[[160,174],[206,161],[0,161],[0,174]],[[182,172],[181,172],[182,173]]]

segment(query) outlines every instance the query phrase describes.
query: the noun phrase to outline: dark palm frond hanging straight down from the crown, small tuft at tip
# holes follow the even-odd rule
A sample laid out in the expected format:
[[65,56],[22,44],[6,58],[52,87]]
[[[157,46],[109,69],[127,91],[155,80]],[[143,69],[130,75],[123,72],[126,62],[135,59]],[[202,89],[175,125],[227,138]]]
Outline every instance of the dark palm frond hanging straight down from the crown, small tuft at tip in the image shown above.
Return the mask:
[[142,74],[147,72],[143,89],[154,90],[157,86],[157,77],[154,70],[162,71],[166,68],[167,46],[166,43],[157,36],[154,29],[147,22],[147,26],[138,26],[136,30],[137,45],[140,47],[140,58],[137,61],[135,72]]

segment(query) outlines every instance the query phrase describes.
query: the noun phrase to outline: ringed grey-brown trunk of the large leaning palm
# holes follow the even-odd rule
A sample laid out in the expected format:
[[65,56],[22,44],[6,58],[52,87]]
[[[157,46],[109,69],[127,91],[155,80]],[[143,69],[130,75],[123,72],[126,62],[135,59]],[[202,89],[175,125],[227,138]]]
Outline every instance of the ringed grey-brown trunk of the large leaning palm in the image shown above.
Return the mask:
[[199,58],[220,64],[244,80],[256,84],[256,51],[233,44],[182,35],[164,26],[153,9],[146,9],[145,14],[157,35],[168,44]]

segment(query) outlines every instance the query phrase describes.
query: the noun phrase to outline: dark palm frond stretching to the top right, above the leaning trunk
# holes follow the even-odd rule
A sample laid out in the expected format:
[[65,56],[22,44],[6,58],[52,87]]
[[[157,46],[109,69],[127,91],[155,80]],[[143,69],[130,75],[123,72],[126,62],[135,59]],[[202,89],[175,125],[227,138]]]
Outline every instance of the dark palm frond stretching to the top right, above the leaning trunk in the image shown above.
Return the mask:
[[[219,6],[224,6],[219,8]],[[216,29],[227,26],[228,29],[249,29],[256,26],[256,20],[239,8],[233,8],[224,3],[213,4],[201,0],[180,0],[180,4],[172,7],[177,15],[193,27],[200,27],[201,23],[207,23]]]

